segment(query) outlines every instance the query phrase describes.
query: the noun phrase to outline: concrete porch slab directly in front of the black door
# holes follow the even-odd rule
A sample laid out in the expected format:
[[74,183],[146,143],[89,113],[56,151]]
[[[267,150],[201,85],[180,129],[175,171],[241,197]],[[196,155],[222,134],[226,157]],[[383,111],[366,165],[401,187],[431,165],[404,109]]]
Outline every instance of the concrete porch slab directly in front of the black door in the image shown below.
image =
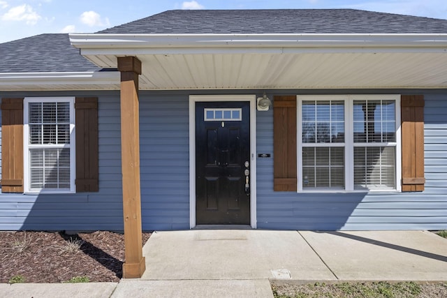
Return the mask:
[[336,279],[296,231],[154,232],[143,255],[142,280],[263,279],[281,269],[298,280]]

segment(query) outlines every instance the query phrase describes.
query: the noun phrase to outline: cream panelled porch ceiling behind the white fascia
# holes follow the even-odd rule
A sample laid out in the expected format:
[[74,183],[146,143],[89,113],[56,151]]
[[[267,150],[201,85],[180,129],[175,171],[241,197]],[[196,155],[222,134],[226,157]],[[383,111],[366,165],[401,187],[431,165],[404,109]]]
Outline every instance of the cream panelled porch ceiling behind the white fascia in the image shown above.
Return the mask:
[[[115,68],[118,55],[85,55]],[[445,52],[137,54],[140,89],[446,88]]]

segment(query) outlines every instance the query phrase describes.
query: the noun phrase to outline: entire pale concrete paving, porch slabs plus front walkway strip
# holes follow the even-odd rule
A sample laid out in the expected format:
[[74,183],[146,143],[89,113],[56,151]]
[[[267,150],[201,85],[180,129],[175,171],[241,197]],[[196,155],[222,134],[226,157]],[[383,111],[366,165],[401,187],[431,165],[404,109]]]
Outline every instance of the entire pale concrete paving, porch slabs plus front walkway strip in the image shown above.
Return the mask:
[[270,279],[447,281],[447,239],[424,231],[154,232],[142,278],[0,284],[0,297],[273,297]]

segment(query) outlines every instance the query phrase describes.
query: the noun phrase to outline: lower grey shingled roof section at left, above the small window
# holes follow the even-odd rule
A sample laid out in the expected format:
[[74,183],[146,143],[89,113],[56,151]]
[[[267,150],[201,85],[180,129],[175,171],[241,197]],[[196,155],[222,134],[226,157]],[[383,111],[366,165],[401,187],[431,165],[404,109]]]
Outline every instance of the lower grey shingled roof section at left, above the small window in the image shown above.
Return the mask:
[[99,68],[70,45],[68,34],[41,34],[0,43],[0,73],[94,71]]

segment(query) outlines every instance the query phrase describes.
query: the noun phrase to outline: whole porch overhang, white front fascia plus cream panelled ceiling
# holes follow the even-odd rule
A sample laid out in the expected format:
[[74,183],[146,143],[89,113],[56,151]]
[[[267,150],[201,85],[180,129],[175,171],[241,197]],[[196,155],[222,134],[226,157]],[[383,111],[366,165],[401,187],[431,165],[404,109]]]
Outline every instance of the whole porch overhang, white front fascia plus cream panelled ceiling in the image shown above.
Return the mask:
[[446,88],[447,34],[71,34],[101,68],[142,61],[140,89]]

